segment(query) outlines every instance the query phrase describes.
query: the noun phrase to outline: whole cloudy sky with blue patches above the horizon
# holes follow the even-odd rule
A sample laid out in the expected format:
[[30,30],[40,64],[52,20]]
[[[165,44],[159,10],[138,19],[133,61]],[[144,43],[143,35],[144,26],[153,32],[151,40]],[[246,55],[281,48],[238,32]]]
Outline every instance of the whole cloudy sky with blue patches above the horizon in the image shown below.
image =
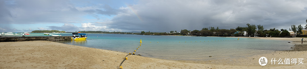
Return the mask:
[[[307,0],[0,0],[0,32],[170,32],[307,24]],[[305,28],[305,27],[304,27]]]

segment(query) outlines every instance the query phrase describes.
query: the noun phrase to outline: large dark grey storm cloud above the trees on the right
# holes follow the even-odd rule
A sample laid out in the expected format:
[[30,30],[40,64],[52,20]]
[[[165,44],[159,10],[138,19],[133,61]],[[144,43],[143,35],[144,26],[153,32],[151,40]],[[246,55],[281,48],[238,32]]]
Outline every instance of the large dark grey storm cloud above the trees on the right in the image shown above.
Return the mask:
[[210,26],[231,29],[246,27],[249,23],[263,25],[265,29],[285,29],[291,25],[305,25],[306,3],[271,0],[141,1],[129,6],[133,10],[125,12],[126,15],[114,17],[109,28],[168,32],[201,30]]

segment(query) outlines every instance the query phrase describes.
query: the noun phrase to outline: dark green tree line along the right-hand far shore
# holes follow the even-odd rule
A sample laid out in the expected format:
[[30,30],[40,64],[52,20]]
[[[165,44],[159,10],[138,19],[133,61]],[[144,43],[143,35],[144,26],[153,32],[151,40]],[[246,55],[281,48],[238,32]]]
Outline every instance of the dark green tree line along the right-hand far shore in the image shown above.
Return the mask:
[[[306,21],[307,23],[307,21]],[[196,35],[196,36],[243,36],[243,31],[247,32],[248,36],[290,36],[290,33],[287,29],[281,29],[280,31],[278,29],[272,28],[269,30],[264,30],[263,25],[251,25],[249,23],[246,24],[246,27],[240,27],[238,26],[235,29],[219,29],[219,27],[208,27],[208,28],[202,28],[202,30],[193,30],[189,31],[187,29],[181,30],[180,33],[173,33],[174,31],[170,31],[170,33],[151,33],[142,31],[142,35]],[[305,26],[307,29],[307,24]],[[303,30],[303,27],[301,25],[298,25],[297,27],[295,25],[291,26],[290,31],[293,31],[295,33],[301,34]],[[282,31],[282,32],[281,32]],[[236,33],[239,32],[239,33]]]

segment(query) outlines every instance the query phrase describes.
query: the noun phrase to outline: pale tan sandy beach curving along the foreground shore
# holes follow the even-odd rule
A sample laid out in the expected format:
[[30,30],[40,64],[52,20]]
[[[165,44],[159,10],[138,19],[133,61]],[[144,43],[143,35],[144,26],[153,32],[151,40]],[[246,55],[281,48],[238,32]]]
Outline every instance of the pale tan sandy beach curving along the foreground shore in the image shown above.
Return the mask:
[[[238,38],[238,37],[236,37]],[[243,37],[239,37],[243,38]],[[306,69],[307,64],[271,64],[271,59],[304,59],[307,42],[301,38],[244,37],[269,40],[289,40],[296,44],[290,51],[272,51],[244,58],[228,58],[208,61],[184,61],[127,56],[123,69]],[[306,38],[307,40],[307,38]],[[305,41],[305,40],[304,40]],[[141,49],[141,48],[140,48]],[[56,43],[52,41],[0,42],[1,69],[118,69],[128,53]],[[258,63],[260,57],[269,61],[266,66]],[[206,57],[208,58],[208,57]],[[212,57],[214,58],[214,57]]]

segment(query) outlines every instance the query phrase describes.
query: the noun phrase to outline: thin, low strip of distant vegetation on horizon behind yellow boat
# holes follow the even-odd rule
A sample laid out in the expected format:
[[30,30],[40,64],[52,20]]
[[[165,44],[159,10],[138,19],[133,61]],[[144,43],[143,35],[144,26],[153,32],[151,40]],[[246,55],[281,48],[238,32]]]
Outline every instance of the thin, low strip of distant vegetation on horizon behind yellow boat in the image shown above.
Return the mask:
[[[105,33],[105,34],[140,34],[140,33],[128,33],[128,32],[107,32],[107,31],[78,31],[80,33]],[[76,32],[66,32],[66,33],[78,33]]]

